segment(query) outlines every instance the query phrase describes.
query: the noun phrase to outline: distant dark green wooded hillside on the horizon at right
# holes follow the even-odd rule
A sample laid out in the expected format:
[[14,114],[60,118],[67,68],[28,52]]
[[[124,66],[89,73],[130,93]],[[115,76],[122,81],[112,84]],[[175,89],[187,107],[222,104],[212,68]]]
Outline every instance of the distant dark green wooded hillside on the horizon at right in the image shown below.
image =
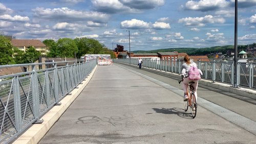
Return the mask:
[[[226,54],[228,51],[234,51],[233,45],[224,45],[224,46],[212,46],[204,48],[169,48],[169,49],[158,49],[151,51],[133,51],[134,53],[157,53],[157,52],[178,52],[178,53],[187,53],[188,55],[207,55],[211,53],[222,53]],[[246,50],[247,45],[239,45],[238,50]]]

